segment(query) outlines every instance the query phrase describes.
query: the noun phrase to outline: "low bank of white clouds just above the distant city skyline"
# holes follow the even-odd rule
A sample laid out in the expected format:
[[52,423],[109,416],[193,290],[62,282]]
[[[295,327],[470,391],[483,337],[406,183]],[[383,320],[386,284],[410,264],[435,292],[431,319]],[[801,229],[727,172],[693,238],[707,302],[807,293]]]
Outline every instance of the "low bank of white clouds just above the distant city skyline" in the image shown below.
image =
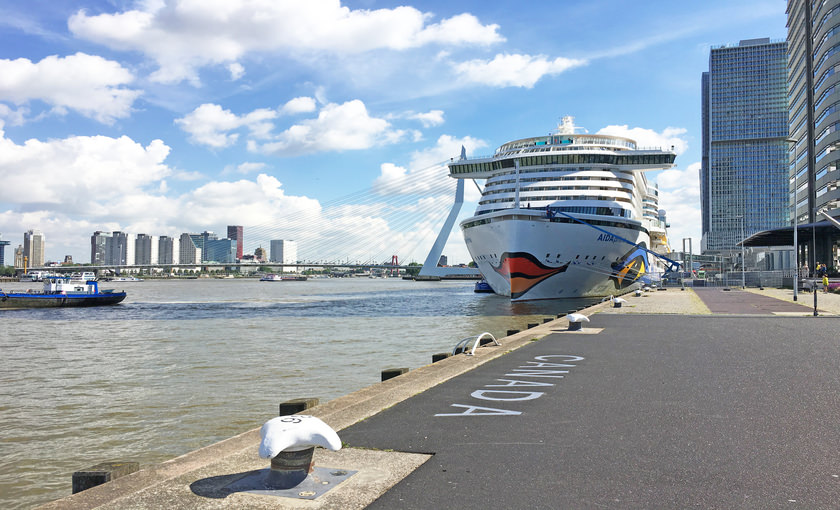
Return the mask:
[[[451,203],[451,195],[441,195],[398,204],[382,200],[324,207],[318,200],[288,195],[276,177],[265,173],[173,191],[167,179],[193,172],[168,166],[169,147],[160,140],[142,145],[128,137],[73,136],[18,144],[6,138],[2,127],[0,121],[0,231],[13,239],[15,232],[42,229],[50,260],[70,254],[87,262],[95,230],[177,237],[229,224],[246,226],[247,251],[267,247],[271,239],[295,238],[302,257],[367,260],[400,250],[402,258],[422,260],[429,236],[440,228],[433,221],[439,214],[432,211],[418,225],[417,211],[440,207],[445,214]],[[432,156],[416,155],[425,157]],[[262,167],[242,163],[238,170]],[[38,186],[31,185],[33,178]]]

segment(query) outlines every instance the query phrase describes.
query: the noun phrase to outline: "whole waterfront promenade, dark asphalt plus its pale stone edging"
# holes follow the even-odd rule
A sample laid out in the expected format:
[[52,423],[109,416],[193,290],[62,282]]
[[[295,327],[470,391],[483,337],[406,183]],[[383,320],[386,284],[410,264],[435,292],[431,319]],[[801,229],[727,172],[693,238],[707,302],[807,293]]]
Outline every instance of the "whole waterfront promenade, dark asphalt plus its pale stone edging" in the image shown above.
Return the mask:
[[45,508],[834,508],[838,298],[627,296],[326,402],[357,473],[313,501],[225,488],[254,429]]

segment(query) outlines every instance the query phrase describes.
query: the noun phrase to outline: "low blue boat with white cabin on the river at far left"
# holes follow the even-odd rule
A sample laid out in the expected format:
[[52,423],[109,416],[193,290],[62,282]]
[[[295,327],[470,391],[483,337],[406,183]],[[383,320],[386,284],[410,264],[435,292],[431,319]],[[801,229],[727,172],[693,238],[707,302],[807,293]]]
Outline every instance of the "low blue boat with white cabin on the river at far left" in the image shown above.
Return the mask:
[[115,305],[123,299],[125,292],[100,291],[99,284],[94,280],[78,283],[67,276],[50,276],[44,279],[44,290],[41,292],[0,290],[0,309],[104,306]]

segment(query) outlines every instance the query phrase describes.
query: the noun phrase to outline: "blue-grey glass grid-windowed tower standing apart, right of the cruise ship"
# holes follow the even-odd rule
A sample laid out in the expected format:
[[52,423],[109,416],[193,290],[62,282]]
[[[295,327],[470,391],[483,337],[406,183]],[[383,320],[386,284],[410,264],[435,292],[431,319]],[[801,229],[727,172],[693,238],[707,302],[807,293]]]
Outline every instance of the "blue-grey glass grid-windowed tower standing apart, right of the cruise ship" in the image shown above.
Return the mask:
[[787,43],[712,48],[702,85],[701,246],[733,253],[742,239],[788,222]]

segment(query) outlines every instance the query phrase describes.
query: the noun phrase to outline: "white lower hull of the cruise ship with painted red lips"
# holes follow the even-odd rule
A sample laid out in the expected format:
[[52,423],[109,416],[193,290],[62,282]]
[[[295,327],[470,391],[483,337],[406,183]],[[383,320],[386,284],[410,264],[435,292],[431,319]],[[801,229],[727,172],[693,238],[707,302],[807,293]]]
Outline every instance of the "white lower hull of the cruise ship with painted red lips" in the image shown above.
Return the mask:
[[495,219],[464,229],[464,239],[493,291],[514,301],[617,295],[649,271],[648,234],[630,228]]

